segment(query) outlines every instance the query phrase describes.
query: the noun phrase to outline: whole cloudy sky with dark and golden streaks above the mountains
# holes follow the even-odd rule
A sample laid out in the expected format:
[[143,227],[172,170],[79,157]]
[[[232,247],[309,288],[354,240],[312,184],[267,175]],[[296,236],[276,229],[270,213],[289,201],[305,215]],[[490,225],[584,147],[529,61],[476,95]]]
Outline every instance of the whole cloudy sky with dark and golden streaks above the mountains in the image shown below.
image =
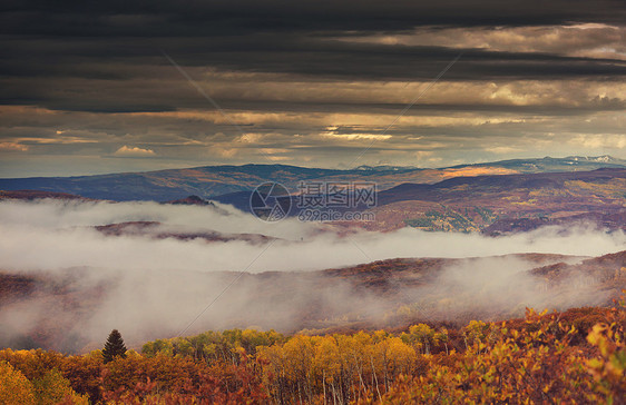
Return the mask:
[[626,158],[623,1],[0,4],[0,177]]

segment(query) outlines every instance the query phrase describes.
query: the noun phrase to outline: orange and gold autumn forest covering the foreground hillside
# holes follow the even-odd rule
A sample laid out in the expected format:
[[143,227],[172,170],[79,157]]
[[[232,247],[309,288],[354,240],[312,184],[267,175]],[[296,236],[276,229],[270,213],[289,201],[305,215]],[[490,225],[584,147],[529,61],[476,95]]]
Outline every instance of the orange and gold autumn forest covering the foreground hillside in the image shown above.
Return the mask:
[[620,403],[626,310],[576,308],[462,328],[284,336],[253,329],[100,350],[0,352],[0,402],[21,404]]

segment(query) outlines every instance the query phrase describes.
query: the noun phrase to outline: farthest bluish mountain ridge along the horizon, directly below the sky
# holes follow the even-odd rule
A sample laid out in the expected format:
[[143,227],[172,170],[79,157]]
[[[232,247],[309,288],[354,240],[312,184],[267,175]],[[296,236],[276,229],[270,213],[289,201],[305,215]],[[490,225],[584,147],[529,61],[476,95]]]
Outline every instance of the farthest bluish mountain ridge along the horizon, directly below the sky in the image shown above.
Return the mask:
[[146,172],[75,177],[0,179],[0,190],[67,192],[86,198],[169,201],[196,195],[212,198],[250,191],[266,182],[281,182],[292,191],[301,181],[372,181],[379,190],[413,184],[436,184],[453,177],[512,175],[626,168],[610,156],[512,159],[439,169],[399,166],[361,166],[355,169],[317,169],[288,165],[205,166]]

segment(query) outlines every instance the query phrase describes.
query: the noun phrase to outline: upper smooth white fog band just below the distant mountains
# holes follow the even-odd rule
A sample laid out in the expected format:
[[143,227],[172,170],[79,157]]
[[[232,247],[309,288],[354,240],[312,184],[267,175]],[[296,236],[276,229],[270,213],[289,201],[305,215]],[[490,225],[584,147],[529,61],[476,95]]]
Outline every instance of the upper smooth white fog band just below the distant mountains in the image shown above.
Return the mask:
[[[125,221],[158,221],[162,230],[262,234],[266,244],[246,240],[110,237],[94,227]],[[395,257],[473,257],[511,253],[599,256],[624,249],[626,235],[590,228],[541,228],[491,238],[478,234],[427,233],[404,228],[349,236],[321,224],[290,218],[264,223],[229,206],[173,206],[156,202],[0,202],[0,268],[41,270],[78,266],[125,270],[284,271],[351,266]],[[257,258],[257,259],[255,259]],[[252,263],[252,265],[251,265]]]

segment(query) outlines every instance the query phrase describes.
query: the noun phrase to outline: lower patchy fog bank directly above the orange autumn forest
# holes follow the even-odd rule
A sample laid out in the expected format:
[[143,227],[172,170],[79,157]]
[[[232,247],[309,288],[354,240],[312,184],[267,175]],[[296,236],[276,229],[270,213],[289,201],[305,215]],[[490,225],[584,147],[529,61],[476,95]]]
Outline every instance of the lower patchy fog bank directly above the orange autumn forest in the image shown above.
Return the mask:
[[[546,257],[540,264],[561,259]],[[464,325],[524,316],[526,307],[567,309],[609,302],[609,292],[590,277],[545,288],[546,280],[528,271],[537,263],[522,257],[413,261],[399,265],[399,273],[385,274],[373,264],[351,276],[341,270],[31,273],[43,281],[2,306],[0,345],[85,353],[101,348],[113,328],[121,330],[129,347],[139,348],[147,340],[209,329],[315,333],[417,322]]]

